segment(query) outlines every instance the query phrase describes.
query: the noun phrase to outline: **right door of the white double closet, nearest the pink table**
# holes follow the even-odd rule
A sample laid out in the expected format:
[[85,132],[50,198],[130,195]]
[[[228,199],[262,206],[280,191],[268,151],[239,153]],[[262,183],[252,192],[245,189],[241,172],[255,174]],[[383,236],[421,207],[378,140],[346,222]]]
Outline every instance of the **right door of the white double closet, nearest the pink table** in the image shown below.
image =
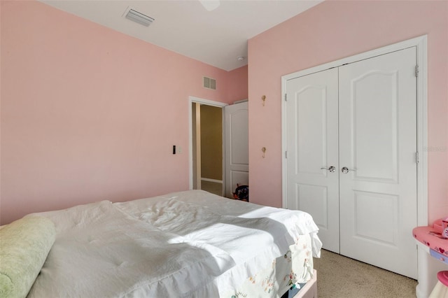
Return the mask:
[[412,278],[415,66],[407,48],[339,67],[341,254]]

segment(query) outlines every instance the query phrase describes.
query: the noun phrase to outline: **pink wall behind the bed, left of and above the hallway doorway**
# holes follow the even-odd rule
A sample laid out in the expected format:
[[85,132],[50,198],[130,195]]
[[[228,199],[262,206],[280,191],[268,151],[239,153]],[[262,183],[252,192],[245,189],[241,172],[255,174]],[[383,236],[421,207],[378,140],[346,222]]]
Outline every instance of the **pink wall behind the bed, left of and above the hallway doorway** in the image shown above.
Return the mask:
[[[1,224],[187,190],[188,96],[247,97],[247,84],[233,80],[242,72],[37,1],[1,1]],[[217,90],[204,89],[202,76]]]

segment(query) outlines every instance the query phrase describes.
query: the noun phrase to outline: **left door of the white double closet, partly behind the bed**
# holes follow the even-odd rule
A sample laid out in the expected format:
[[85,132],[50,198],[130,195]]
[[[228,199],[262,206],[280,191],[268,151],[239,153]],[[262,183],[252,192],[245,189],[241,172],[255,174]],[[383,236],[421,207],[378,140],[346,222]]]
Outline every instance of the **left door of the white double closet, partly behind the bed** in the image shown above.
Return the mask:
[[287,208],[305,211],[323,248],[339,253],[337,69],[286,85]]

